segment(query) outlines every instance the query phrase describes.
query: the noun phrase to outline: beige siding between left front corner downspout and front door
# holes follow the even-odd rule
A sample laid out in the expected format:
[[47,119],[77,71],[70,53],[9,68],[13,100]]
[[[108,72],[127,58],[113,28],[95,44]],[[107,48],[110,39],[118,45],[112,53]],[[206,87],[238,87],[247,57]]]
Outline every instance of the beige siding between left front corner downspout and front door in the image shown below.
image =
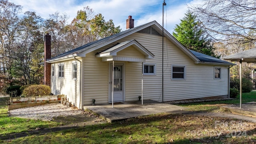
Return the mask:
[[108,102],[108,62],[101,62],[96,58],[94,52],[86,54],[83,59],[83,98],[84,105]]

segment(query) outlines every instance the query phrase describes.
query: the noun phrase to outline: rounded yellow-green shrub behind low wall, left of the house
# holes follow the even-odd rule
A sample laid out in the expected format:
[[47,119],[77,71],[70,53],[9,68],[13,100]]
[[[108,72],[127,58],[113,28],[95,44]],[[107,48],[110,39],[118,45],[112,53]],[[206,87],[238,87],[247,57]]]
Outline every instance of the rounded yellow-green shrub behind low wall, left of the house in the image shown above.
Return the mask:
[[50,95],[51,88],[43,84],[31,85],[23,90],[24,96],[47,96]]

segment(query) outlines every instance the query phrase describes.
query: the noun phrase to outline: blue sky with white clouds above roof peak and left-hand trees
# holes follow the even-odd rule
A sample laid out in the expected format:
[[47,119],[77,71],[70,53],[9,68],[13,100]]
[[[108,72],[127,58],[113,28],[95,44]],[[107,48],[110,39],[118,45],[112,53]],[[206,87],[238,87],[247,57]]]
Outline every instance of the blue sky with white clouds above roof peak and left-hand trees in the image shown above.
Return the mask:
[[[89,6],[95,14],[101,13],[104,19],[112,19],[115,26],[120,25],[126,30],[126,19],[132,16],[134,26],[156,20],[162,25],[162,4],[164,0],[9,0],[16,5],[22,6],[22,11],[36,12],[37,15],[46,19],[50,14],[66,13],[69,23],[76,16],[78,10]],[[176,24],[188,10],[187,5],[202,3],[202,0],[165,0],[164,28],[172,34]]]

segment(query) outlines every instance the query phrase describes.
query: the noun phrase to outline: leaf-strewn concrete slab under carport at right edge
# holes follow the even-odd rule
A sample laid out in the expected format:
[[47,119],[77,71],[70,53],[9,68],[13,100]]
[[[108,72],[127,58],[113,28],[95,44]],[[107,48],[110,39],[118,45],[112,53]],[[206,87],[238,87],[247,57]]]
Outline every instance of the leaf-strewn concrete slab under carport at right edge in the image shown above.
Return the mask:
[[240,108],[240,104],[232,104],[228,106],[220,107],[223,110],[228,110],[230,112],[236,112],[240,114],[249,114],[252,116],[256,116],[256,102],[247,102],[242,104],[242,108]]

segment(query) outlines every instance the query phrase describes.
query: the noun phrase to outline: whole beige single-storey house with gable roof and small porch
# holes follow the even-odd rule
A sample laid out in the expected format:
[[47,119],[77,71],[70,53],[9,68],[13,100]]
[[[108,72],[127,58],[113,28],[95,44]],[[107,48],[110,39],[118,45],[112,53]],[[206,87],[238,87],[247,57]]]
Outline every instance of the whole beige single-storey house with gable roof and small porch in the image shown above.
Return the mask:
[[232,63],[187,50],[156,21],[135,28],[132,16],[126,22],[123,32],[47,58],[52,93],[65,94],[80,109],[92,99],[103,104],[138,96],[159,102],[229,96]]

